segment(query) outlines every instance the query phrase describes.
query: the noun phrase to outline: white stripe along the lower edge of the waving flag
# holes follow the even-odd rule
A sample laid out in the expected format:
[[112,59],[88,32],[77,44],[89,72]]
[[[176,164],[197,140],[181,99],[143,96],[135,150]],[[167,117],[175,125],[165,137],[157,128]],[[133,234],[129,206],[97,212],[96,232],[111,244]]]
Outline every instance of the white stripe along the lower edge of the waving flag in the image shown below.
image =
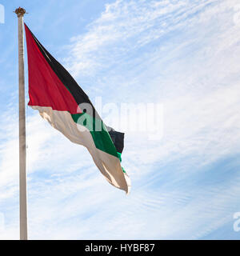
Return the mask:
[[125,190],[127,194],[130,192],[130,178],[127,174],[123,173],[119,159],[102,150],[98,150],[90,131],[86,127],[74,122],[69,112],[53,110],[50,106],[31,107],[34,110],[38,110],[42,118],[48,121],[55,129],[62,132],[71,142],[86,146],[96,166],[98,166],[98,169],[110,184]]

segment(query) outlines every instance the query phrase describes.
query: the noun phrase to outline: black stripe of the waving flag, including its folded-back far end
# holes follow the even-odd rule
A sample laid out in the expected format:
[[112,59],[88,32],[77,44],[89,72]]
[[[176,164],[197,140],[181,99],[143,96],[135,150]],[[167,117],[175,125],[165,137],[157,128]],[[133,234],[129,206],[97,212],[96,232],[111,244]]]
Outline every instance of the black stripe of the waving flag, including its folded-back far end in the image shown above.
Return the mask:
[[[25,24],[26,25],[26,24]],[[29,27],[27,26],[29,29]],[[30,30],[30,29],[29,29]],[[69,72],[45,49],[44,46],[42,46],[41,42],[38,41],[38,39],[34,36],[32,31],[30,30],[30,33],[32,37],[34,38],[34,41],[36,42],[38,49],[41,51],[42,56],[46,59],[46,62],[50,65],[51,69],[54,70],[54,73],[58,76],[58,78],[62,81],[63,85],[66,86],[66,88],[70,91],[70,94],[73,95],[75,101],[79,104],[82,103],[89,103],[92,106],[92,114],[93,118],[99,118],[99,115],[97,111],[94,109],[94,106],[92,102],[90,102],[90,99],[85,94],[85,92],[82,90],[80,86],[78,86],[78,83],[74,80],[74,78],[69,74]],[[87,113],[91,114],[91,113]],[[101,119],[102,120],[102,119]],[[122,153],[123,146],[124,146],[124,134],[113,130],[110,127],[107,127],[109,130],[110,137],[114,143],[114,146],[116,147],[116,150],[119,153]]]

